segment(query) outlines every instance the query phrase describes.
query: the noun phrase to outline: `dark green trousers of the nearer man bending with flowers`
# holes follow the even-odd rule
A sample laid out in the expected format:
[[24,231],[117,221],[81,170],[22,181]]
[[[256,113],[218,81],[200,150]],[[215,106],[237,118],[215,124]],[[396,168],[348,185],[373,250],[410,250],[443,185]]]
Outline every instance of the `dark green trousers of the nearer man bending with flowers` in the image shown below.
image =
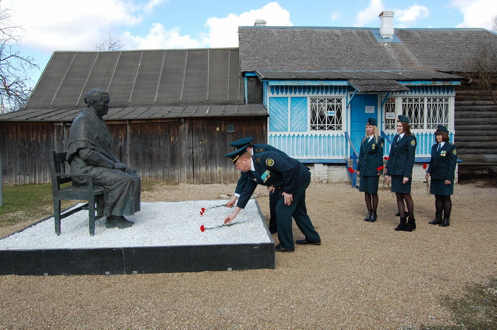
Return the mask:
[[291,205],[285,205],[284,196],[280,195],[276,204],[276,222],[278,226],[278,240],[282,248],[295,248],[292,232],[292,217],[300,231],[310,242],[319,242],[321,238],[314,229],[311,218],[307,214],[306,189],[311,183],[311,176],[297,188],[293,194]]

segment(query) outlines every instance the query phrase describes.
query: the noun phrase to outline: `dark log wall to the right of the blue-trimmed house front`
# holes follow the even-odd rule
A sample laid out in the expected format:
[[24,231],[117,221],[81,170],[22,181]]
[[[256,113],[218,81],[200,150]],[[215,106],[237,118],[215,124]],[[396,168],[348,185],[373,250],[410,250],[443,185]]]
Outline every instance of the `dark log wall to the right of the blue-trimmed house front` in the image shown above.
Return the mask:
[[489,91],[481,89],[474,82],[456,86],[454,127],[458,158],[468,163],[495,159],[496,124],[497,104]]

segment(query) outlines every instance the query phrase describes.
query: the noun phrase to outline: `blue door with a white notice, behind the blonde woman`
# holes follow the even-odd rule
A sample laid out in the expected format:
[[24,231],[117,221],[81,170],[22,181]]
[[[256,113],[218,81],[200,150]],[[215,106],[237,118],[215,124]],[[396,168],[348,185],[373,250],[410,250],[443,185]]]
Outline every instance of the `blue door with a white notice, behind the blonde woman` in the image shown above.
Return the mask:
[[[355,94],[350,102],[350,139],[359,155],[362,138],[366,134],[368,118],[378,120],[378,95]],[[350,150],[352,155],[352,150]]]

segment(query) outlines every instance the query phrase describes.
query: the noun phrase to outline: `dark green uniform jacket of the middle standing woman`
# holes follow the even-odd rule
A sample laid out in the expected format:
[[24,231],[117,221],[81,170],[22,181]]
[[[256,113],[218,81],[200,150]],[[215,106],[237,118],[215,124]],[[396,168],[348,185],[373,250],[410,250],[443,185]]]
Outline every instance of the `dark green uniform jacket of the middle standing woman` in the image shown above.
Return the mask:
[[407,134],[400,140],[399,137],[400,134],[397,134],[392,142],[386,174],[411,177],[416,153],[416,137]]

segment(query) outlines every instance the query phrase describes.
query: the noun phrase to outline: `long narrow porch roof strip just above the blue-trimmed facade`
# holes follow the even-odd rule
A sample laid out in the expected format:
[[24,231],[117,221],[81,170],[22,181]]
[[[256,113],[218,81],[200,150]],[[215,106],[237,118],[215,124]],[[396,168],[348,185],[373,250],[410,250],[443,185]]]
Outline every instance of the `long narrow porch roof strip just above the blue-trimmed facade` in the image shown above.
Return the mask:
[[260,80],[397,80],[397,81],[461,81],[467,78],[437,71],[262,71]]

